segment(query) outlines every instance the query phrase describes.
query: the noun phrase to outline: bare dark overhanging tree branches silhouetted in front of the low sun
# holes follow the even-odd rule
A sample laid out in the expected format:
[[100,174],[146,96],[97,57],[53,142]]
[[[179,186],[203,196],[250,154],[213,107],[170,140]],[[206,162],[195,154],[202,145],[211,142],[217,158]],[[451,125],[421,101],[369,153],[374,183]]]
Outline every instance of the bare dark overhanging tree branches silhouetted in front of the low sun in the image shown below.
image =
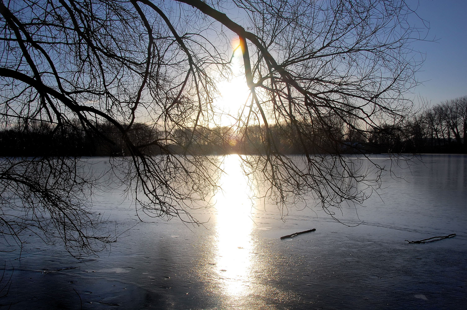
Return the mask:
[[[37,120],[113,145],[127,155],[115,158],[126,161],[121,181],[151,216],[196,222],[191,203],[219,176],[218,158],[201,152],[212,142],[264,154],[243,164],[279,207],[311,193],[333,214],[330,207],[365,199],[355,184],[378,185],[341,154],[346,141],[395,128],[410,111],[403,95],[420,64],[412,13],[403,0],[2,1],[1,124]],[[233,39],[249,98],[224,135],[213,129],[225,112],[216,88],[233,75]],[[304,157],[284,156],[286,140]],[[92,232],[99,217],[83,211],[86,197],[74,197],[93,184],[78,163],[4,159],[1,234],[64,231],[71,248],[110,241]],[[48,224],[35,225],[42,219],[30,210],[43,210]]]

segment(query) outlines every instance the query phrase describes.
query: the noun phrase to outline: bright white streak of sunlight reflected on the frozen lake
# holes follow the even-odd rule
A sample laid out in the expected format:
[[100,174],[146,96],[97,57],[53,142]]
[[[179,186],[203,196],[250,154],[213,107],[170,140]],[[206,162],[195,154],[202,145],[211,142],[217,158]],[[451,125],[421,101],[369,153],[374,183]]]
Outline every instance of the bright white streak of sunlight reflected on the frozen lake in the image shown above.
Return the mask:
[[246,294],[252,264],[253,207],[252,189],[241,168],[238,155],[224,158],[224,174],[219,180],[222,190],[214,196],[217,214],[217,273],[224,294]]

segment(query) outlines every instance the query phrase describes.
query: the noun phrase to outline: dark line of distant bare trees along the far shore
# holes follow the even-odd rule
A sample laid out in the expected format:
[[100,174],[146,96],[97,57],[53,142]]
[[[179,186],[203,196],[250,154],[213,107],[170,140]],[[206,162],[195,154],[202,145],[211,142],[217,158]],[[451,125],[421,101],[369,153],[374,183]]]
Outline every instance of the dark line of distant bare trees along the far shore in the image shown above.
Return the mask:
[[[270,125],[274,148],[283,154],[303,153],[466,153],[467,96],[436,104],[404,124],[382,124],[358,130],[338,117],[327,121],[333,126]],[[358,126],[358,119],[354,121]],[[38,120],[21,120],[0,131],[0,156],[122,156],[128,154],[120,131],[108,122],[96,122],[95,132],[85,131],[78,120],[58,127]],[[250,125],[236,132],[232,127],[173,131],[170,135],[155,126],[134,124],[128,137],[148,155],[180,154],[264,154],[265,130]],[[161,137],[158,139],[158,137]],[[163,138],[165,137],[165,138]],[[169,137],[169,138],[167,138]],[[163,140],[163,141],[161,141]],[[299,141],[301,140],[301,141]],[[158,143],[154,143],[158,141]],[[165,142],[165,143],[162,143]],[[165,145],[165,147],[163,146]]]

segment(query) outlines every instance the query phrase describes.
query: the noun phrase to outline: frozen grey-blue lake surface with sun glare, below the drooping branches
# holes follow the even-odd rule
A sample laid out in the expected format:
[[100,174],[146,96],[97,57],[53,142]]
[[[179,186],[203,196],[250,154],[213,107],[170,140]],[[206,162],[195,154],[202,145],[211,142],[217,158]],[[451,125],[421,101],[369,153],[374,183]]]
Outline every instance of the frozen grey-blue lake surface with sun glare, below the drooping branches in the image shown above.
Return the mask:
[[[94,160],[105,165],[106,158]],[[234,157],[229,160],[228,176],[219,181],[224,193],[214,197],[216,209],[194,213],[209,220],[204,227],[177,219],[139,223],[88,261],[73,259],[60,245],[36,242],[25,244],[20,260],[1,253],[6,261],[1,287],[13,276],[0,304],[12,303],[9,309],[466,308],[466,156],[424,155],[425,164],[396,169],[404,179],[386,175],[380,196],[336,215],[348,225],[361,223],[356,227],[303,205],[290,208],[285,221],[275,206],[252,211],[250,189],[240,181]],[[117,231],[138,223],[134,204],[118,191],[94,200],[95,210]],[[311,228],[316,231],[279,239]],[[404,241],[453,233],[425,244]]]

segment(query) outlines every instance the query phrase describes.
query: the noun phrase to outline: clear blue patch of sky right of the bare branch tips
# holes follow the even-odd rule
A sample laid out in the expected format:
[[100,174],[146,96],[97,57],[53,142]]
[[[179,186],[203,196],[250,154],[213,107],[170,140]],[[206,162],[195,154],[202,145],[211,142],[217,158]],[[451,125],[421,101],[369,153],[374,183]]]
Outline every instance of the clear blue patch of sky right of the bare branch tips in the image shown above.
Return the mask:
[[[416,0],[408,3],[417,4]],[[420,0],[417,14],[429,22],[428,39],[414,48],[425,54],[413,92],[431,105],[467,95],[467,0]],[[417,22],[417,25],[420,22]],[[417,101],[417,100],[416,100]]]

